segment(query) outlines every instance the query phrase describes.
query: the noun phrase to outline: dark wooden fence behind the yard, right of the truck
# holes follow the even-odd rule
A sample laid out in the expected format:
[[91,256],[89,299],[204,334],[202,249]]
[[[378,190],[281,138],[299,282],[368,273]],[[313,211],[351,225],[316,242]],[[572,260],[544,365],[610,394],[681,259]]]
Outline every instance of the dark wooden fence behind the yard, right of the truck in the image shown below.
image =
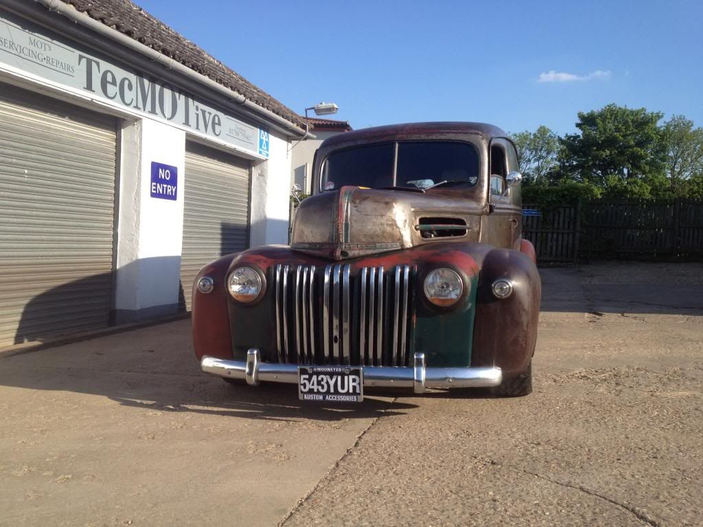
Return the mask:
[[523,216],[522,235],[541,262],[702,259],[703,201],[591,200]]

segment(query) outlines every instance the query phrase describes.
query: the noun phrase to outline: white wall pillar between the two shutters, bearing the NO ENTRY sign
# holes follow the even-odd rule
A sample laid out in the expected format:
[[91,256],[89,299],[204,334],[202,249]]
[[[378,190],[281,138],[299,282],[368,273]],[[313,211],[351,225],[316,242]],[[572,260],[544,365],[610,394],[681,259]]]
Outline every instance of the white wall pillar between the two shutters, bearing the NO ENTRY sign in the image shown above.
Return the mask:
[[[122,127],[117,223],[117,322],[175,313],[179,301],[186,134],[137,119]],[[150,196],[151,162],[176,167],[176,200]]]

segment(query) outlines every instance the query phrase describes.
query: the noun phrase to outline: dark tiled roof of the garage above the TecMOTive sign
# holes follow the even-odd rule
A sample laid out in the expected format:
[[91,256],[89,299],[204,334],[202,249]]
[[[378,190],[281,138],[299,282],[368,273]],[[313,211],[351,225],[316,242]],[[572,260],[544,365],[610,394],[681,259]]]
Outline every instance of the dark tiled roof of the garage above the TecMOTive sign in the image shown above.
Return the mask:
[[215,59],[205,50],[175,32],[130,0],[63,0],[77,11],[86,13],[109,27],[141,42],[176,62],[189,67],[217,84],[241,93],[266,110],[304,126],[305,119],[265,91]]

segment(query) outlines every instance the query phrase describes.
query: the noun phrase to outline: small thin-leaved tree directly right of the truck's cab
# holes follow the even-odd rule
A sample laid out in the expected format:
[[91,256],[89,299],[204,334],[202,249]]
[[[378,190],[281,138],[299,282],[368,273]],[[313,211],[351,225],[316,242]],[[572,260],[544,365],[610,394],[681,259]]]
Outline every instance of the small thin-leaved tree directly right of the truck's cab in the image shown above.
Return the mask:
[[542,125],[536,131],[512,136],[517,148],[517,164],[528,184],[546,185],[548,175],[557,168],[559,137]]

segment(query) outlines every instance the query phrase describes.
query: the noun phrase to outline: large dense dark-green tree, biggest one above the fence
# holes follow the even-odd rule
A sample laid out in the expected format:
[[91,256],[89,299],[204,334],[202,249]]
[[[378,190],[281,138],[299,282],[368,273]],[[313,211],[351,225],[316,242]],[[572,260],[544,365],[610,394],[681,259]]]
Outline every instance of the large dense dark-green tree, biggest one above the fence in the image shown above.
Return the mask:
[[560,139],[562,169],[605,189],[605,195],[649,197],[645,178],[664,171],[660,112],[610,104],[579,112],[577,134]]

